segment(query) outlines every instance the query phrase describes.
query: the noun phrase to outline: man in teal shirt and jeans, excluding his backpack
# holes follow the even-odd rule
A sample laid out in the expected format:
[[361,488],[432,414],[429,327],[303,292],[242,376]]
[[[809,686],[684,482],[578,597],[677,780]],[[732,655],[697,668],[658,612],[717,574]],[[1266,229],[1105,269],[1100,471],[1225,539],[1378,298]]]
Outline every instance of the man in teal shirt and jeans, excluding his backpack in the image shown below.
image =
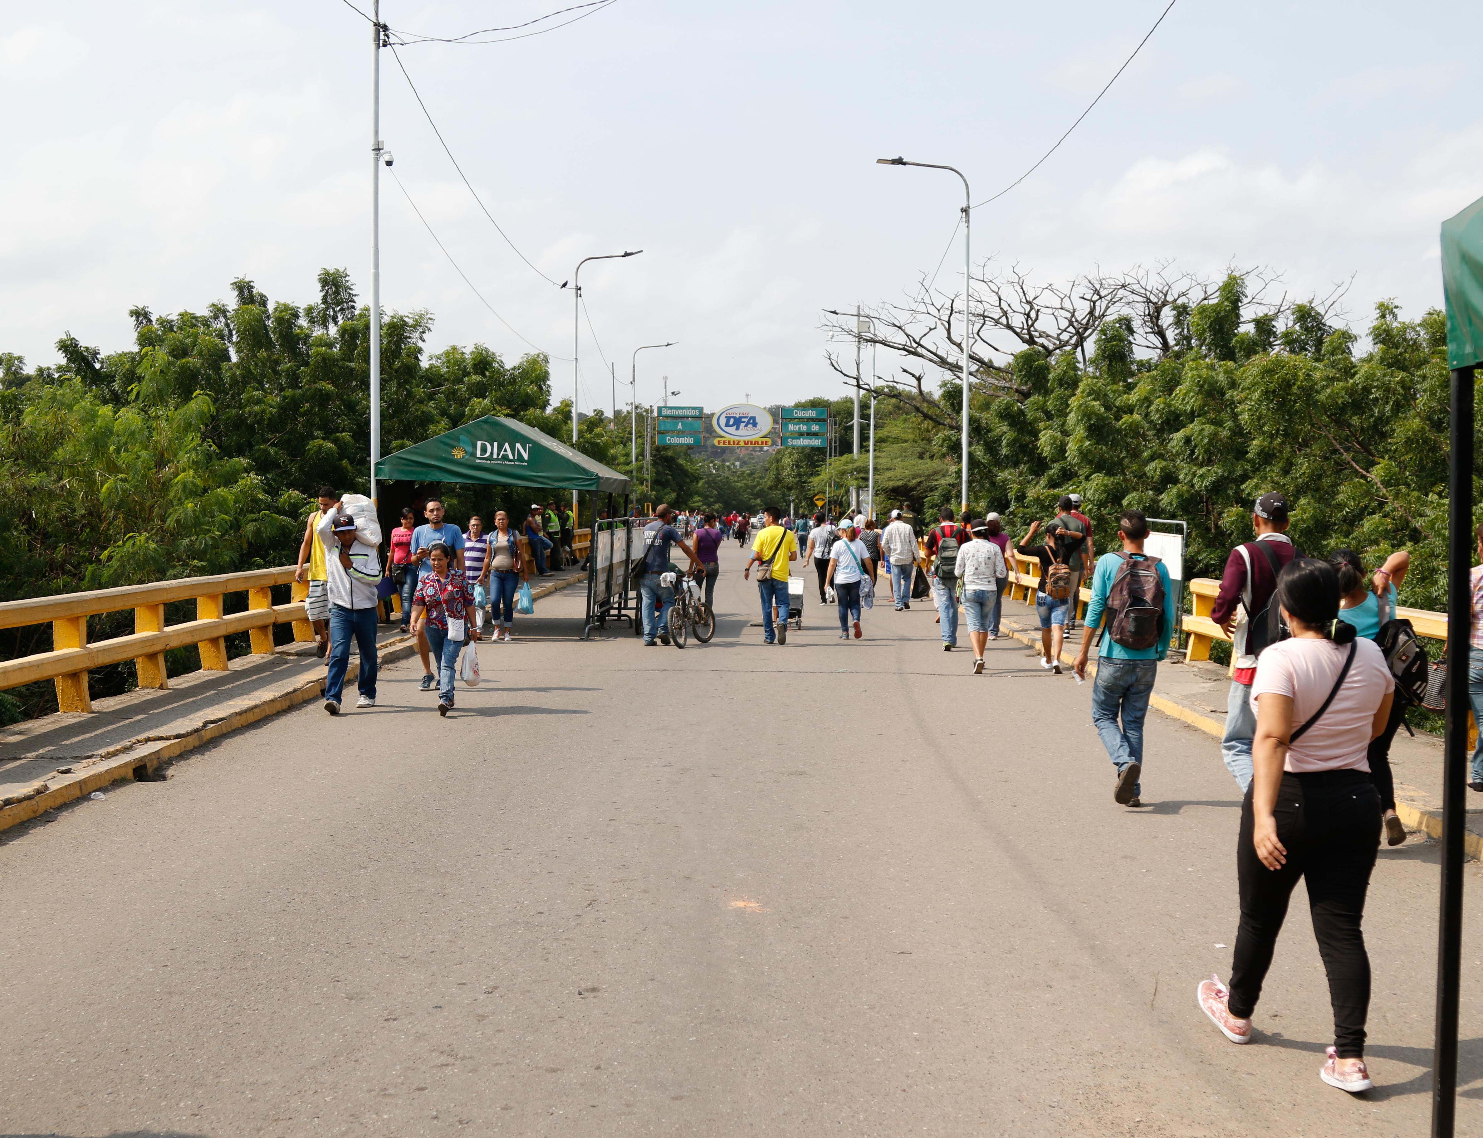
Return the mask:
[[[1123,554],[1103,553],[1091,578],[1091,603],[1087,606],[1086,628],[1081,633],[1081,650],[1077,653],[1075,673],[1078,680],[1087,677],[1087,656],[1091,639],[1097,642],[1097,677],[1091,688],[1091,723],[1108,748],[1108,757],[1117,768],[1117,785],[1112,800],[1121,806],[1142,806],[1143,772],[1143,719],[1148,716],[1148,699],[1154,693],[1154,677],[1158,661],[1169,655],[1169,642],[1175,634],[1179,613],[1175,609],[1175,590],[1169,581],[1169,569],[1158,559],[1143,554],[1143,539],[1148,536],[1148,519],[1137,510],[1124,510],[1118,517],[1117,535],[1123,539],[1123,553],[1137,560],[1152,560],[1158,579],[1164,587],[1164,618],[1160,622],[1158,642],[1151,648],[1126,648],[1111,636],[1115,612],[1108,608],[1112,582],[1124,565]],[[1108,625],[1103,628],[1103,625]],[[1121,719],[1121,725],[1118,723]]]

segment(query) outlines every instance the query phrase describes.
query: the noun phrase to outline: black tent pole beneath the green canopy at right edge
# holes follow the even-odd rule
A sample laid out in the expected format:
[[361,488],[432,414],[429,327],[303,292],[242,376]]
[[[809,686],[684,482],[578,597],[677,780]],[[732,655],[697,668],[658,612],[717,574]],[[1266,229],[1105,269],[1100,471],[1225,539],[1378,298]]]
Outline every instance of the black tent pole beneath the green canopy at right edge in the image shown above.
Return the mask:
[[1473,597],[1473,367],[1452,370],[1447,462],[1447,728],[1441,765],[1441,913],[1437,936],[1437,1024],[1431,1134],[1452,1138],[1458,1108],[1458,987],[1462,971],[1462,836],[1468,760],[1468,648]]

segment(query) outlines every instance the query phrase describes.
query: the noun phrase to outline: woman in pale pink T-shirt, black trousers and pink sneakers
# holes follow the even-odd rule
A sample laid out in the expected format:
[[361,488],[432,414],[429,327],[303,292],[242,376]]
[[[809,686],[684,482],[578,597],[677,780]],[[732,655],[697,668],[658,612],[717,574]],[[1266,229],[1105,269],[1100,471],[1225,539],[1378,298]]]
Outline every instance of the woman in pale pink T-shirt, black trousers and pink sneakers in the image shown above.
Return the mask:
[[1341,1091],[1369,1091],[1370,959],[1360,923],[1381,803],[1366,754],[1390,720],[1394,680],[1375,642],[1339,619],[1332,565],[1292,562],[1277,578],[1275,599],[1293,634],[1262,652],[1252,683],[1255,776],[1241,803],[1231,987],[1212,976],[1197,997],[1226,1039],[1250,1042],[1252,1012],[1302,877],[1333,1005],[1333,1046],[1318,1074]]

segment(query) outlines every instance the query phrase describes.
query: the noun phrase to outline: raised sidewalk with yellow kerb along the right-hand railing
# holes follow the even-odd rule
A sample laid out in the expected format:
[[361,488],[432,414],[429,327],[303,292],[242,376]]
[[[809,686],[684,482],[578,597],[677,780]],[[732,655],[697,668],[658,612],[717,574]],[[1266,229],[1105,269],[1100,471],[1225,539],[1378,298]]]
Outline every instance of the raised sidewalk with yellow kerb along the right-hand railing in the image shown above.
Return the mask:
[[[1003,630],[1016,640],[1040,648],[1040,619],[1032,606],[1014,600],[1004,602]],[[960,636],[962,624],[960,619]],[[1062,650],[1063,665],[1075,659],[1081,646],[1081,627],[1066,637]],[[1096,649],[1091,650],[1093,665]],[[1066,667],[1068,683],[1075,683]],[[1226,670],[1210,662],[1167,662],[1158,668],[1151,705],[1166,716],[1221,738],[1225,735],[1225,702],[1229,679]],[[1415,738],[1406,729],[1396,735],[1391,745],[1391,769],[1396,775],[1396,813],[1407,830],[1419,830],[1428,837],[1441,837],[1441,739],[1436,735],[1416,732]],[[1473,802],[1470,799],[1470,802]],[[1483,861],[1483,797],[1477,808],[1468,809],[1468,833],[1464,836],[1467,855]]]

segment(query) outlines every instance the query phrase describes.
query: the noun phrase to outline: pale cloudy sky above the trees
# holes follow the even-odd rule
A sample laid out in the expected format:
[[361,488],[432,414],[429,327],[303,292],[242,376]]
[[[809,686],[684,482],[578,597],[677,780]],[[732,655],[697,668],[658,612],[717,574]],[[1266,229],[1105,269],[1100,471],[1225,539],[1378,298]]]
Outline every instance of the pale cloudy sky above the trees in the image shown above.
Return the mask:
[[[460,36],[568,3],[381,15]],[[574,313],[556,284],[584,256],[642,249],[581,273],[583,410],[610,406],[610,363],[626,402],[633,350],[664,341],[638,356],[645,403],[663,376],[707,409],[844,394],[822,310],[903,299],[939,262],[946,287],[962,264],[961,182],[875,159],[958,166],[989,197],[1166,3],[615,0],[541,36],[383,50],[383,307],[429,310],[430,350],[547,351],[561,399]],[[344,267],[369,296],[374,52],[344,0],[10,12],[0,351],[52,363],[64,332],[117,351],[132,305],[202,311],[239,276],[304,304],[322,267]],[[1046,280],[1262,265],[1293,295],[1352,279],[1358,330],[1378,299],[1419,316],[1441,301],[1439,224],[1483,196],[1480,31],[1483,9],[1443,0],[1178,0],[1056,154],[974,210],[974,261]],[[397,58],[535,268],[460,181]]]

